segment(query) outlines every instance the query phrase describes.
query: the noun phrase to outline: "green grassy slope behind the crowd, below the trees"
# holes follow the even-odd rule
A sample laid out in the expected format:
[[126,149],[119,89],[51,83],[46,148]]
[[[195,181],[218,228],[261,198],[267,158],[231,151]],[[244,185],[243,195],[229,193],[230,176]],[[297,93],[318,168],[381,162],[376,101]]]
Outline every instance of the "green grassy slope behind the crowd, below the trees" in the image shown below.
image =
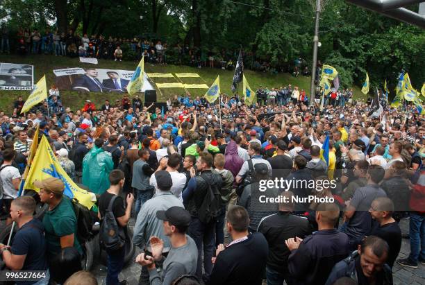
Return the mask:
[[[35,66],[34,69],[34,81],[35,83],[46,74],[48,88],[55,82],[55,76],[53,69],[67,68],[67,67],[97,67],[104,69],[122,69],[122,70],[134,70],[138,62],[115,62],[113,60],[99,60],[99,64],[83,64],[79,62],[78,58],[66,58],[66,57],[55,57],[53,55],[30,55],[27,57],[19,57],[16,55],[0,55],[0,62],[12,62],[19,64],[32,64]],[[208,86],[213,83],[217,75],[220,76],[220,88],[223,93],[231,94],[231,83],[233,80],[233,71],[226,71],[222,69],[210,69],[203,68],[197,69],[194,67],[187,66],[176,66],[176,65],[153,65],[145,64],[145,71],[147,73],[158,72],[158,73],[197,73],[200,78],[182,78],[183,83],[206,83]],[[258,73],[254,71],[245,71],[245,76],[249,82],[251,89],[256,90],[260,85],[267,87],[281,87],[288,85],[288,83],[298,85],[300,89],[310,89],[310,78],[300,76],[294,78],[290,74],[277,74],[271,75],[266,73]],[[178,82],[174,78],[152,78],[155,83],[172,83]],[[203,81],[205,80],[205,81]],[[242,89],[242,86],[240,86]],[[353,87],[356,98],[364,98],[358,87]],[[158,101],[165,102],[168,97],[180,94],[185,94],[184,89],[178,88],[167,88],[161,89],[158,94]],[[206,89],[189,89],[192,96],[203,96],[206,93]],[[10,110],[12,102],[16,100],[17,96],[22,95],[26,98],[30,92],[28,91],[0,91],[0,110]],[[110,101],[116,98],[122,98],[122,94],[117,93],[90,93],[80,94],[72,91],[60,92],[63,103],[65,106],[72,107],[73,110],[81,108],[84,101],[87,99],[92,100],[97,106],[103,104],[103,101],[108,98]],[[143,98],[142,98],[143,99]]]

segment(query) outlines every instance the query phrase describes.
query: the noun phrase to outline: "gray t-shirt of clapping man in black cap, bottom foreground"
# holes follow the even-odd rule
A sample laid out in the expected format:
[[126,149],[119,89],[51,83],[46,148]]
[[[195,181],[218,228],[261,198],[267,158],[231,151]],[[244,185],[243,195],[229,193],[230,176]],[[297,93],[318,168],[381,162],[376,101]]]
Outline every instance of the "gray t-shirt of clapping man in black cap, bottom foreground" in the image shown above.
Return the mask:
[[180,248],[169,250],[163,270],[149,270],[151,285],[171,285],[181,275],[194,275],[197,271],[198,249],[194,240],[186,235],[188,242]]

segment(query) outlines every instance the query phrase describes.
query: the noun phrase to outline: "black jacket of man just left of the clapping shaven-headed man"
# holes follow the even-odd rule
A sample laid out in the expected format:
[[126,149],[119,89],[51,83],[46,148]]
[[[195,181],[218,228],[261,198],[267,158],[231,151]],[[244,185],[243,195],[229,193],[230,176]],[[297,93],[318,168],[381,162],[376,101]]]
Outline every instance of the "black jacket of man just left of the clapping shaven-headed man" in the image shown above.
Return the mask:
[[283,241],[295,236],[304,239],[311,234],[311,227],[307,218],[295,216],[289,211],[278,211],[263,218],[258,225],[258,232],[262,233],[269,243],[267,266],[281,273],[288,273],[288,257],[291,252]]

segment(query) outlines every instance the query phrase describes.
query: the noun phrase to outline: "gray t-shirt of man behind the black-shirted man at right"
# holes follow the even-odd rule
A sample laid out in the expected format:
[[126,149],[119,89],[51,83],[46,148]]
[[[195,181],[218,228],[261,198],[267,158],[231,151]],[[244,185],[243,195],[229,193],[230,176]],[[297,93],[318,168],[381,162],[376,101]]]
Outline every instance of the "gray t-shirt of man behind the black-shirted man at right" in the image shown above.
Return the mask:
[[350,241],[363,239],[372,228],[372,216],[369,213],[372,201],[378,197],[386,197],[383,189],[376,185],[368,184],[358,188],[350,201],[350,205],[356,208],[353,216],[349,219],[346,234]]

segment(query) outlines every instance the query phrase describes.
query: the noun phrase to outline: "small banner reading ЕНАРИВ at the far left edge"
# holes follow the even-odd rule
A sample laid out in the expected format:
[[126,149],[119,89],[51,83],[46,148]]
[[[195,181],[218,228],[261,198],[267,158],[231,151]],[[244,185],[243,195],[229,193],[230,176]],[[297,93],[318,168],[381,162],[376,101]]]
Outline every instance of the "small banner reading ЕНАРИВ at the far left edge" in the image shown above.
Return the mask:
[[0,63],[0,90],[28,90],[34,85],[34,67],[29,64]]

